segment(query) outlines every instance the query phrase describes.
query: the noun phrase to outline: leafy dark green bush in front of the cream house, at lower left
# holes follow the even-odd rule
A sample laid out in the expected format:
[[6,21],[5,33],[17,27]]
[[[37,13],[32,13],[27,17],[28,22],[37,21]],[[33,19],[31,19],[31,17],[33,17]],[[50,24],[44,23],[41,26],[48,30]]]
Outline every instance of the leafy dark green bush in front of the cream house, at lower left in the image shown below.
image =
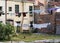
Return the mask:
[[14,26],[0,23],[0,40],[10,40],[12,34],[14,34]]

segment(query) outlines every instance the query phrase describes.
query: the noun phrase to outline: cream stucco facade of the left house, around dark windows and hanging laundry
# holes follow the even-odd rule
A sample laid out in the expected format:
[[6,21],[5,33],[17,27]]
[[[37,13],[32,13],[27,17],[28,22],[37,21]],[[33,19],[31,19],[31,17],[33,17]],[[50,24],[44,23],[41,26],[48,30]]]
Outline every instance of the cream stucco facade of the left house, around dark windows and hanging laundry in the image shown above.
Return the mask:
[[[15,13],[15,5],[19,5],[19,13],[22,13],[22,12],[27,12],[26,16],[23,17],[24,20],[23,20],[23,26],[22,28],[24,30],[28,30],[30,27],[29,27],[29,24],[30,24],[30,21],[33,21],[33,14],[30,14],[29,12],[29,6],[32,6],[32,9],[33,9],[33,3],[30,3],[30,2],[25,2],[24,3],[24,7],[22,7],[22,2],[21,1],[7,1],[7,20],[8,19],[11,19],[13,20],[13,24],[14,26],[17,26],[18,23],[17,22],[20,22],[19,25],[21,25],[21,21],[22,21],[22,14],[20,17],[16,16],[18,15],[17,13]],[[4,0],[0,0],[0,7],[2,7],[2,11],[4,13],[1,14],[0,16],[0,21],[2,21],[4,24],[5,24],[5,1]],[[9,7],[11,7],[12,11],[9,11]],[[22,9],[24,8],[24,11],[22,11]],[[17,8],[18,9],[18,8]],[[32,15],[32,16],[30,16]],[[24,25],[28,25],[28,26],[25,26]]]

